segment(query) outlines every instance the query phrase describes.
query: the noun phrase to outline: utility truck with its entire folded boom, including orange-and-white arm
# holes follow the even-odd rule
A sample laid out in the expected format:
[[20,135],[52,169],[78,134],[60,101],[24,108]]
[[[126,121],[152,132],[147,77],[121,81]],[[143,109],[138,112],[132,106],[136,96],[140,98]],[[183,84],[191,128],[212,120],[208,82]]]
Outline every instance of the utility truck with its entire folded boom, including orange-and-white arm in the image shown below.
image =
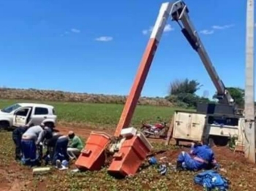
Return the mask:
[[170,127],[173,139],[176,139],[177,143],[178,141],[201,141],[202,139],[207,139],[210,144],[223,145],[234,137],[238,139],[238,144],[242,146],[244,140],[244,115],[238,112],[232,96],[217,74],[188,13],[189,9],[184,1],[163,3],[159,9],[159,15],[118,122],[115,136],[118,136],[123,128],[129,126],[167,19],[170,17],[171,20],[178,23],[181,33],[189,42],[192,50],[195,50],[199,55],[203,66],[217,89],[217,98],[219,100],[218,104],[198,103],[196,112],[177,110],[173,115]]

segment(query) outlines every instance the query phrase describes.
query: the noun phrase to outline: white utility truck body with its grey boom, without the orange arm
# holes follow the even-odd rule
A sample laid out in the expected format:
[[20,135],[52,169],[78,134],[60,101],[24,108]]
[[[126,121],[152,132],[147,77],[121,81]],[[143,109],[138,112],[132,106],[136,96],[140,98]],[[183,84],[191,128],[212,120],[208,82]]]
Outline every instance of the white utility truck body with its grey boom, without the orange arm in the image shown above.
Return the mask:
[[198,36],[189,18],[189,9],[184,1],[173,4],[172,20],[181,27],[181,32],[200,56],[203,65],[217,89],[218,104],[197,104],[196,112],[176,110],[170,130],[173,139],[178,141],[206,140],[211,145],[227,145],[230,139],[236,139],[236,148],[244,146],[244,114],[236,108],[236,104],[214,69],[206,48]]

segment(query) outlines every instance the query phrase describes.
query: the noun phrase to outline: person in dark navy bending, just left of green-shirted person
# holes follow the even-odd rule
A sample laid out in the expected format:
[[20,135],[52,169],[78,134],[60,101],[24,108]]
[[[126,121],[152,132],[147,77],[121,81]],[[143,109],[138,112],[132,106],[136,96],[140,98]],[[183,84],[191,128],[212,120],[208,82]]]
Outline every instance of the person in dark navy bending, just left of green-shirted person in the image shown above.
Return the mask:
[[69,160],[67,155],[67,145],[69,144],[68,136],[59,136],[56,140],[54,148],[54,154],[52,159],[52,165],[57,165],[56,162],[62,162],[63,160]]

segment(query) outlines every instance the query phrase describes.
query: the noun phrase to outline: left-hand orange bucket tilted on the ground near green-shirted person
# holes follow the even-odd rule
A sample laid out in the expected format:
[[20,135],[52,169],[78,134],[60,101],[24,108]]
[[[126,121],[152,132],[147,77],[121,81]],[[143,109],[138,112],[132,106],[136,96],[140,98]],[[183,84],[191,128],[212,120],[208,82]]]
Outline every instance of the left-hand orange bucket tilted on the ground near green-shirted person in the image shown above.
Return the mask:
[[105,149],[108,144],[110,144],[110,136],[107,133],[91,132],[75,165],[83,170],[100,170],[105,163]]

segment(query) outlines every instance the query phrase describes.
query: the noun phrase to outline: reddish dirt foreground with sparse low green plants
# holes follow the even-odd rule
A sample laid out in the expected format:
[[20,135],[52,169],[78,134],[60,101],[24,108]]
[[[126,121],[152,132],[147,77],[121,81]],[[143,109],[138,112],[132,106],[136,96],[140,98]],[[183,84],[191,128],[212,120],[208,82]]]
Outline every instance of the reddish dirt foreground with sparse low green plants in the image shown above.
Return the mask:
[[[166,156],[172,164],[176,163],[178,153],[185,148],[164,146],[152,142],[154,149],[167,149],[167,152],[157,155],[157,159]],[[188,151],[189,149],[185,149]],[[80,191],[80,190],[152,190],[152,191],[200,191],[203,187],[194,184],[196,172],[175,172],[168,168],[167,174],[159,174],[158,166],[140,168],[133,177],[115,179],[108,174],[108,165],[100,171],[86,171],[72,173],[72,171],[58,171],[51,168],[49,174],[34,175],[32,169],[20,165],[13,160],[15,147],[10,132],[0,132],[0,190],[20,191]],[[225,168],[220,174],[230,179],[230,191],[255,190],[255,165],[245,163],[244,157],[226,149],[215,148],[217,160]],[[230,160],[232,158],[232,161]],[[71,168],[75,168],[71,165]],[[242,169],[242,171],[241,171]]]

